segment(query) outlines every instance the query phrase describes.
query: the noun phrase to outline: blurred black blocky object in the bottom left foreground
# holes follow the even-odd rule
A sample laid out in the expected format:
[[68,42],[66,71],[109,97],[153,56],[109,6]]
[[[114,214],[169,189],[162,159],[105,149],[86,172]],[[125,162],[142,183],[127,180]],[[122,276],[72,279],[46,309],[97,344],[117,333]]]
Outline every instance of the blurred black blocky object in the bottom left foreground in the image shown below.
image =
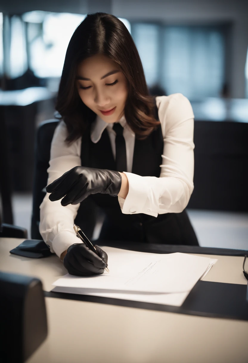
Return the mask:
[[37,278],[0,272],[0,360],[22,363],[47,337],[42,283]]

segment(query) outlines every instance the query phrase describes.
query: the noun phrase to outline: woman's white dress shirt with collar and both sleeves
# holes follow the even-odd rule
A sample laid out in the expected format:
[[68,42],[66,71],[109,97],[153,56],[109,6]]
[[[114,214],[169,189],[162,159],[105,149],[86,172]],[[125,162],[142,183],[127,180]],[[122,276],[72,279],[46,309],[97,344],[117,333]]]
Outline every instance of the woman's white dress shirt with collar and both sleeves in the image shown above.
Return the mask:
[[[194,114],[189,100],[181,93],[157,96],[158,117],[164,139],[160,177],[133,174],[135,134],[125,116],[119,120],[124,127],[127,151],[129,191],[125,199],[118,196],[122,213],[145,213],[154,217],[162,213],[180,213],[189,203],[194,189]],[[107,128],[115,158],[113,123],[104,122],[98,115],[91,127],[91,140],[97,143]],[[55,129],[51,142],[47,185],[66,171],[81,165],[81,140],[70,145],[65,142],[67,129],[62,121]],[[121,170],[120,170],[121,171]],[[80,243],[73,225],[79,204],[61,205],[61,200],[50,201],[46,193],[40,205],[40,233],[51,252],[59,257],[70,245]]]

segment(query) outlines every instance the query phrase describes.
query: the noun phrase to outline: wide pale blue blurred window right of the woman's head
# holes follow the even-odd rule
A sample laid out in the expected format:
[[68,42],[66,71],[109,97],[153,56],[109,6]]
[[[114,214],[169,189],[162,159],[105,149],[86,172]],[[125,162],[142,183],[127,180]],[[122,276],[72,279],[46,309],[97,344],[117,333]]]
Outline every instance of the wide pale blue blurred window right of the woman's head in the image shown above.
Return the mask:
[[219,97],[225,70],[225,36],[218,26],[132,24],[149,87],[187,98]]

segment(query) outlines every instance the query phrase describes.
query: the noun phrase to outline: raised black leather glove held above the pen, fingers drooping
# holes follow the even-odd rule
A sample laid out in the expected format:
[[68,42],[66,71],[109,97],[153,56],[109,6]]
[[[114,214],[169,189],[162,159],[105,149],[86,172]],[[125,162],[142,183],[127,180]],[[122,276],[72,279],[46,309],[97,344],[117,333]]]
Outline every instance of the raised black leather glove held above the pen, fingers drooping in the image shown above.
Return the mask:
[[75,166],[60,178],[47,185],[51,201],[61,200],[62,205],[78,204],[90,194],[103,193],[117,196],[121,188],[118,171]]

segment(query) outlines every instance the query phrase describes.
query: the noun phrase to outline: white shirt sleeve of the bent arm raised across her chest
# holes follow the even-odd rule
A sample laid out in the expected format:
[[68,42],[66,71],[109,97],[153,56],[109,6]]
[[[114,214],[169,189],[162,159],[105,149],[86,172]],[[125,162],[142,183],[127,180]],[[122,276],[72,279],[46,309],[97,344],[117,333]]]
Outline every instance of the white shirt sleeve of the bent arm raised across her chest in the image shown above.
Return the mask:
[[158,117],[164,137],[160,177],[125,172],[129,191],[118,197],[124,214],[180,213],[194,189],[194,113],[181,93],[157,97]]

